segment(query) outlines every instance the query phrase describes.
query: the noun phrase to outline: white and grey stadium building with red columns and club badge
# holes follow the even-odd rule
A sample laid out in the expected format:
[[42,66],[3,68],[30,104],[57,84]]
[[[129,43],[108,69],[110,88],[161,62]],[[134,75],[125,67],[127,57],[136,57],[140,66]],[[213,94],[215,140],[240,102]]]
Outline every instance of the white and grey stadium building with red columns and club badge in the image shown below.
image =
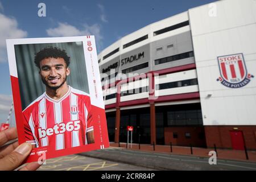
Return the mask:
[[139,29],[98,55],[110,142],[256,149],[256,1]]

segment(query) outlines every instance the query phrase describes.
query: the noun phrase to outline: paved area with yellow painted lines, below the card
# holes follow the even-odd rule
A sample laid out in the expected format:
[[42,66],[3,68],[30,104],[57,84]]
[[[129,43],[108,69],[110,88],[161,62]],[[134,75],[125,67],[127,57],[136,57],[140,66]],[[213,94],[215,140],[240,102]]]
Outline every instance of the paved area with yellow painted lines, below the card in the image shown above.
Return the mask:
[[110,162],[81,155],[68,155],[60,158],[48,159],[38,171],[148,171],[154,170],[130,164]]

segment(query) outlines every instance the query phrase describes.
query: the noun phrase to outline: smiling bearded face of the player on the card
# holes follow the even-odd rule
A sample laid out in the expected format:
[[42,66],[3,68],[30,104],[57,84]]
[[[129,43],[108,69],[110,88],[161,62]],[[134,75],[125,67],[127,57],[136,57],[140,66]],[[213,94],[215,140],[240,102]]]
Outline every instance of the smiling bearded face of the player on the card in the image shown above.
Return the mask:
[[40,76],[43,83],[51,89],[58,89],[67,80],[70,69],[67,68],[65,60],[58,57],[48,57],[40,61]]

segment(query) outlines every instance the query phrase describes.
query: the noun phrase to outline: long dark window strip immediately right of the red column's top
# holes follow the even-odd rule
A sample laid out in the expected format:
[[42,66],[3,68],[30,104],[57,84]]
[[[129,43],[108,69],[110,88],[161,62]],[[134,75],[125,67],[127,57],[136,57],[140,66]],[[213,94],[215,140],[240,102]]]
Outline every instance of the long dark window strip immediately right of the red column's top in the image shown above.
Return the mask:
[[197,78],[158,84],[155,86],[155,89],[163,90],[163,89],[171,89],[171,88],[176,88],[181,86],[191,86],[191,85],[197,85]]

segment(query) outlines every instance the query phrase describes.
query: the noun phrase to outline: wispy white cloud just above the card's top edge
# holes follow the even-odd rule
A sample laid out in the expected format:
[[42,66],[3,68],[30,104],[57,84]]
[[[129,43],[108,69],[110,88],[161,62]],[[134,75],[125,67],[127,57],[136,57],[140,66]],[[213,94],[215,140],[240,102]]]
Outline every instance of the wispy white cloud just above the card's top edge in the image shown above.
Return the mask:
[[102,47],[102,35],[101,27],[99,24],[95,23],[92,26],[84,24],[81,29],[72,26],[68,23],[58,23],[56,28],[48,28],[46,30],[49,36],[82,36],[82,35],[95,35],[96,46],[98,49]]

